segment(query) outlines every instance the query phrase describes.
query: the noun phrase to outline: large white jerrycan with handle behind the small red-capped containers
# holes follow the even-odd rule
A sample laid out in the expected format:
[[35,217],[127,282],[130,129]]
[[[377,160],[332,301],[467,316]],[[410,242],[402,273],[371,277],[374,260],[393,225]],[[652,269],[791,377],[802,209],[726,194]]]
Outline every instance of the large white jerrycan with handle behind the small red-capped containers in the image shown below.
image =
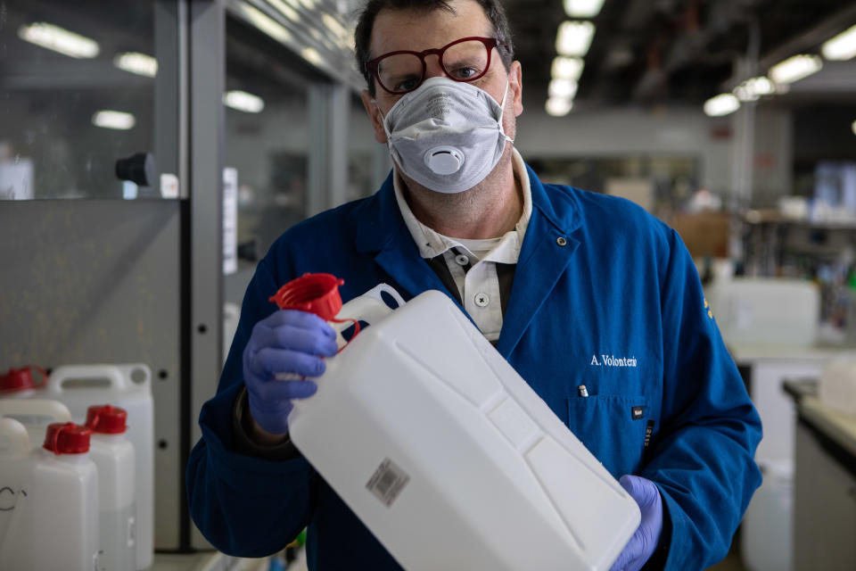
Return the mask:
[[142,363],[65,365],[54,368],[39,396],[62,401],[75,422],[86,422],[91,405],[108,403],[128,412],[128,440],[135,452],[136,568],[154,559],[154,408],[152,371]]

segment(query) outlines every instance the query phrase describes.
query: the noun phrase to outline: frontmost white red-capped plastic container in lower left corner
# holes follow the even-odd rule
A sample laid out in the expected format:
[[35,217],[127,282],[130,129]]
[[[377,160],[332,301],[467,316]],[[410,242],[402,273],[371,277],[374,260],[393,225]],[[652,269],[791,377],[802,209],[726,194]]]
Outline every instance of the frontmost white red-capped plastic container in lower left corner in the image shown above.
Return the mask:
[[[29,444],[29,437],[20,423],[10,432],[9,423],[15,422],[0,419],[0,431],[4,431],[0,434],[11,434],[20,450],[22,443]],[[23,460],[28,468],[0,546],[0,568],[100,568],[98,472],[89,459],[89,436],[85,426],[52,424],[43,447]]]

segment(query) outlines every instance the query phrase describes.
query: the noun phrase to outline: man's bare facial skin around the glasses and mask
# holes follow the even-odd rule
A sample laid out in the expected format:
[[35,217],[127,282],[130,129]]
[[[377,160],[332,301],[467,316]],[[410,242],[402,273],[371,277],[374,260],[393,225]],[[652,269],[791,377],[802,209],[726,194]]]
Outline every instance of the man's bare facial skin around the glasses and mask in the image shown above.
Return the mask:
[[[454,0],[449,4],[455,13],[446,10],[428,13],[392,10],[379,12],[372,29],[370,44],[372,57],[398,50],[422,52],[446,46],[462,37],[494,37],[490,20],[478,3],[473,0]],[[506,85],[508,86],[503,128],[506,135],[513,139],[516,130],[514,118],[523,112],[520,63],[513,62],[511,70],[506,71],[497,49],[494,48],[488,71],[472,84],[488,92],[497,103],[502,102]],[[440,67],[437,56],[428,55],[425,58],[425,79],[442,76],[445,76],[445,73]],[[363,104],[372,120],[374,138],[378,143],[385,145],[387,138],[383,130],[383,118],[378,108],[385,117],[401,95],[387,93],[383,87],[377,85],[375,79],[373,81],[375,103],[372,103],[373,97],[369,95],[368,90],[364,90]]]

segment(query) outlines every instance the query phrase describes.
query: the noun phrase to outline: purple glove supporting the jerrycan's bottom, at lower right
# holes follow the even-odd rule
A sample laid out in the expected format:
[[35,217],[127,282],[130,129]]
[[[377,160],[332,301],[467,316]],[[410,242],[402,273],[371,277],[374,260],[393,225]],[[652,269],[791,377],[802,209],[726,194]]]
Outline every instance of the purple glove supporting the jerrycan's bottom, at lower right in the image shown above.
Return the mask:
[[651,558],[660,532],[663,531],[663,498],[654,482],[640,476],[621,476],[621,487],[639,504],[642,521],[621,555],[615,559],[611,571],[638,571]]

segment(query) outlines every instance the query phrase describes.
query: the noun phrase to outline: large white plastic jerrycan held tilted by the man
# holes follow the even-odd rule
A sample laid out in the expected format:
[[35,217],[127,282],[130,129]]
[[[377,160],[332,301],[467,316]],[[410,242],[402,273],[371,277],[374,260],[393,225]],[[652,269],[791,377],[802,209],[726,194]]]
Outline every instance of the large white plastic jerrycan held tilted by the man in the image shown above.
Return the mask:
[[402,567],[611,567],[636,501],[446,295],[379,285],[336,317],[371,327],[289,432]]

